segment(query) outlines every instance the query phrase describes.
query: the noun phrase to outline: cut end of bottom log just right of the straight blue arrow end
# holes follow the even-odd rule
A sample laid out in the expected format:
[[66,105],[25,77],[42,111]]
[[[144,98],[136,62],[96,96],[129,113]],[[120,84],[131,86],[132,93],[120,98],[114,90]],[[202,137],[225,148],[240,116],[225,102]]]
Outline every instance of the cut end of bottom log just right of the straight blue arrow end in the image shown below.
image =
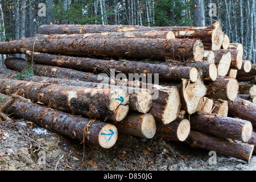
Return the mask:
[[156,133],[156,122],[152,114],[142,117],[141,133],[144,138],[153,138]]

